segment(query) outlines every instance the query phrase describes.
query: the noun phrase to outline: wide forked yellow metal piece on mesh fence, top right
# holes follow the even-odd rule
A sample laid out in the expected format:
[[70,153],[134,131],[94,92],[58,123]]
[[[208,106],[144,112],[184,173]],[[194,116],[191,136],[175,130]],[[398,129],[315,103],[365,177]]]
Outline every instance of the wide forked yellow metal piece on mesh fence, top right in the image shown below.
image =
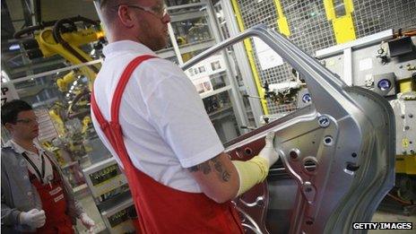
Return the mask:
[[337,44],[356,39],[352,12],[354,4],[352,0],[343,0],[345,15],[337,17],[335,14],[334,0],[324,0],[325,13],[328,21],[333,23],[333,29]]

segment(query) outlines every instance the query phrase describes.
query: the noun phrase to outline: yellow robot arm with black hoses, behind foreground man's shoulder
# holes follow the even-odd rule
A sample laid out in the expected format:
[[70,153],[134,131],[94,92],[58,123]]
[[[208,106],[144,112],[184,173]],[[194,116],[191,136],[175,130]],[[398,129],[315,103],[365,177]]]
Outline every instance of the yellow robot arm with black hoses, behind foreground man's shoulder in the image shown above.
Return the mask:
[[[91,27],[78,29],[75,22],[82,22],[83,24],[91,25]],[[91,56],[83,52],[79,47],[104,38],[104,32],[100,30],[100,23],[82,16],[31,26],[16,32],[14,38],[22,39],[23,35],[30,33],[34,34],[34,39],[26,39],[23,42],[29,57],[49,57],[57,54],[63,56],[73,65],[92,61]],[[98,74],[100,66],[82,66],[80,70],[88,78],[89,88],[91,89],[91,84]],[[61,91],[65,91],[65,83],[74,80],[73,75],[67,74],[62,80],[58,80],[58,87]]]

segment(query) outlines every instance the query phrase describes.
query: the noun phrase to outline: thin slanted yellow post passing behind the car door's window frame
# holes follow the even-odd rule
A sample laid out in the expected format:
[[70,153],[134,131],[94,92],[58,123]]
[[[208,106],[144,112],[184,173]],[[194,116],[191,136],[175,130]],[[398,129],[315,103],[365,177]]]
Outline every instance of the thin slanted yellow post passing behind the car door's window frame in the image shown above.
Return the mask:
[[[237,0],[231,0],[231,4],[232,4],[232,8],[234,9],[234,13],[236,13],[238,28],[239,28],[240,31],[243,31],[243,30],[245,30],[245,26],[244,26],[244,22],[243,22],[243,17],[241,16],[241,12],[239,10]],[[244,39],[244,46],[246,48],[248,62],[250,63],[250,66],[251,66],[251,72],[253,73],[253,76],[254,76],[254,79],[255,79],[255,82],[256,82],[256,88],[257,88],[258,95],[261,98],[263,98],[264,97],[264,89],[263,89],[262,82],[260,82],[260,76],[257,72],[258,70],[257,70],[256,62],[255,62],[255,57],[253,56],[254,52],[253,52],[253,47],[251,46],[250,39]],[[267,100],[262,99],[262,100],[260,100],[260,103],[262,104],[264,115],[268,115],[269,114],[269,109],[267,108]]]

